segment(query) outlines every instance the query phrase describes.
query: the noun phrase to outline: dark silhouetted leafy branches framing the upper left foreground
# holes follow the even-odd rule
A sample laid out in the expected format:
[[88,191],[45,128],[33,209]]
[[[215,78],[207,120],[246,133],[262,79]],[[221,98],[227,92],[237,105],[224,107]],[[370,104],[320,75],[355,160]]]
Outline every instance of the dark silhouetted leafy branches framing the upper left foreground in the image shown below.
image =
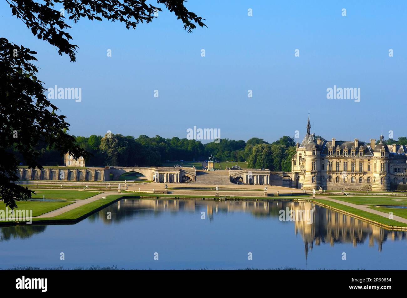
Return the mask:
[[[66,18],[54,9],[62,4],[65,14],[74,24],[80,18],[124,23],[126,28],[135,29],[141,22],[149,23],[161,8],[147,4],[146,0],[6,0],[11,13],[22,20],[38,39],[55,46],[60,55],[68,54],[75,61],[77,45],[70,42],[72,37],[66,29]],[[182,0],[158,0],[168,11],[173,12],[191,32],[195,24],[206,26],[202,17],[188,11]],[[11,25],[12,26],[12,25]],[[10,43],[0,38],[0,97],[1,131],[0,142],[2,160],[0,161],[0,196],[11,208],[17,207],[16,201],[31,198],[33,191],[15,184],[20,161],[29,167],[42,168],[39,158],[42,154],[38,144],[44,142],[60,155],[70,152],[75,158],[89,157],[89,152],[75,144],[74,137],[68,135],[69,124],[65,116],[57,115],[57,107],[51,104],[44,92],[42,81],[37,79],[37,67],[31,61],[37,60],[24,46]],[[16,154],[15,152],[18,152]]]

